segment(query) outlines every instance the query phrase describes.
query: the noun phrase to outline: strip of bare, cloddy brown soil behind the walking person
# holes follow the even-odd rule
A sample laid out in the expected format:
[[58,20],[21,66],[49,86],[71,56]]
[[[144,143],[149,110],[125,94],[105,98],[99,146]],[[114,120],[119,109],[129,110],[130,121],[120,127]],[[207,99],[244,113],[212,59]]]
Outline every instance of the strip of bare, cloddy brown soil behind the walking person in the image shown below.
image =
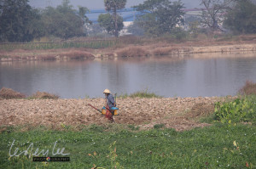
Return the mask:
[[[117,124],[133,124],[149,129],[165,124],[177,131],[209,126],[196,121],[201,115],[214,111],[214,103],[227,98],[154,98],[117,99]],[[231,98],[230,98],[231,99]],[[104,99],[3,99],[0,100],[1,126],[32,125],[58,128],[61,124],[79,126],[109,123],[100,112],[87,104],[102,109]]]

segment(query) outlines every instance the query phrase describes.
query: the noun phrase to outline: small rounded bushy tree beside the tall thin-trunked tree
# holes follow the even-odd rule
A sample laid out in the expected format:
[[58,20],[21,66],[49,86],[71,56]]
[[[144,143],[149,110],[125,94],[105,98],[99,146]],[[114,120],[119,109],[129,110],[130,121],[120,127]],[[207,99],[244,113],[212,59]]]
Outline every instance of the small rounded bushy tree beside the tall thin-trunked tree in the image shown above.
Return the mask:
[[116,33],[119,33],[124,27],[123,18],[117,15],[117,19],[114,19],[111,14],[100,14],[98,22],[109,34],[116,37]]

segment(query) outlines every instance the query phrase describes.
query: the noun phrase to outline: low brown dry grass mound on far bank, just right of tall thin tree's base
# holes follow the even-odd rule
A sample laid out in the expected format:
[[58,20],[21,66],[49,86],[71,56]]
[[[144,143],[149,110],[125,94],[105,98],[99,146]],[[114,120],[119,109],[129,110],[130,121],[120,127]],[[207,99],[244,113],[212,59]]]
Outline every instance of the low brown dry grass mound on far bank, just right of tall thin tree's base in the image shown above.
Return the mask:
[[129,47],[129,48],[120,49],[117,52],[117,55],[119,57],[148,56],[149,52],[142,47],[141,48],[140,47]]

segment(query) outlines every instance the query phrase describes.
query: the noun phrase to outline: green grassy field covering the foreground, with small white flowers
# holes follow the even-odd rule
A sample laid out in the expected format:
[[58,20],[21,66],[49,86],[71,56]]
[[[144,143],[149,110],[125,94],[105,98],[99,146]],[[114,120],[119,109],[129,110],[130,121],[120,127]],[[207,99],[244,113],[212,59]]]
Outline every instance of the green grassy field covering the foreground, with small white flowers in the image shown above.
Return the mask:
[[[0,168],[256,168],[256,126],[215,123],[211,127],[176,132],[173,129],[127,130],[118,125],[92,125],[81,131],[38,127],[21,132],[9,127],[1,133]],[[115,129],[114,129],[115,128]],[[131,127],[134,128],[134,127]],[[70,162],[32,162],[29,156],[9,158],[15,148],[65,148]],[[235,142],[236,141],[236,142]],[[32,151],[33,152],[33,151]]]

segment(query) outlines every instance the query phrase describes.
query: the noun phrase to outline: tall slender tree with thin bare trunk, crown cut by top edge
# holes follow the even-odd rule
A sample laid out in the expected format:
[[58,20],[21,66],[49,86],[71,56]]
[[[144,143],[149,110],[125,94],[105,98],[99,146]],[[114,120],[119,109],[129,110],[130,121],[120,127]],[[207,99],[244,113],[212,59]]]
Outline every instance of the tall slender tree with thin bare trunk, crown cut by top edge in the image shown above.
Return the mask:
[[[125,8],[125,4],[126,4],[126,0],[104,0],[104,5],[105,5],[106,10],[108,12],[113,12],[114,27],[113,27],[113,31],[111,31],[111,32],[113,32],[113,35],[115,37],[119,36],[119,31],[122,30],[124,27],[124,25],[119,24],[121,16],[119,16],[119,14],[117,14],[117,10]],[[109,17],[109,15],[106,14],[106,17],[102,17],[102,18],[109,19],[108,17]],[[121,26],[121,27],[119,27],[119,26]]]

